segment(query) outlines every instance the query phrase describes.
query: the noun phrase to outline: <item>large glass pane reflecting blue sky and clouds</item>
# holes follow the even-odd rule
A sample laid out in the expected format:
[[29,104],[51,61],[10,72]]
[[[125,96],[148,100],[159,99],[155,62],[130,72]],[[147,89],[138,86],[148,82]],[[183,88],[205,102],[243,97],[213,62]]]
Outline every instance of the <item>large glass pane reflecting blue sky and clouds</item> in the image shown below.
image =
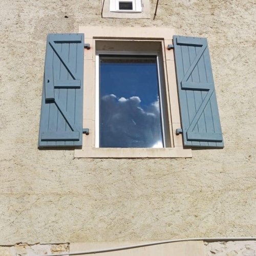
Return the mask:
[[163,147],[156,56],[100,55],[100,147]]

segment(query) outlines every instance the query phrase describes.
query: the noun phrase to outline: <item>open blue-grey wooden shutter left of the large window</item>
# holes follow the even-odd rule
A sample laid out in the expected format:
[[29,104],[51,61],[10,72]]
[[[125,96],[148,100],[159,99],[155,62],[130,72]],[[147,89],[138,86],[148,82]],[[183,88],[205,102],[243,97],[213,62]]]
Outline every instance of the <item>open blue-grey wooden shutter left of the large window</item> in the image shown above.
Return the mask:
[[82,145],[83,34],[49,34],[38,147]]

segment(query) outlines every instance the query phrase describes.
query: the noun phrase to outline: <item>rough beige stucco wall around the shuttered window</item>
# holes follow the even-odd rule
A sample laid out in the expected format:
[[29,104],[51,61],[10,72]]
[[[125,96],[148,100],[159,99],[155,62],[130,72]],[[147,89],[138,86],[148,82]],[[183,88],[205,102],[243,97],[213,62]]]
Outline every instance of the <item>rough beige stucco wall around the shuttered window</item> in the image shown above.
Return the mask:
[[[256,236],[253,2],[160,0],[155,20],[130,20],[102,19],[101,0],[1,1],[0,244]],[[208,38],[223,150],[191,159],[37,150],[47,33],[129,24]]]

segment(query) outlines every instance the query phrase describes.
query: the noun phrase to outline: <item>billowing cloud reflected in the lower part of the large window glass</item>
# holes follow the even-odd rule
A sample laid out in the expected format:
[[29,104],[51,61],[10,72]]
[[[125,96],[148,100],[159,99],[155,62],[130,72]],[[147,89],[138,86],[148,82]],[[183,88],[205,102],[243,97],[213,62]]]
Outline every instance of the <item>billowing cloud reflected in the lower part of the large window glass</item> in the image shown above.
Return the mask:
[[159,99],[142,105],[138,96],[101,98],[101,147],[163,147]]

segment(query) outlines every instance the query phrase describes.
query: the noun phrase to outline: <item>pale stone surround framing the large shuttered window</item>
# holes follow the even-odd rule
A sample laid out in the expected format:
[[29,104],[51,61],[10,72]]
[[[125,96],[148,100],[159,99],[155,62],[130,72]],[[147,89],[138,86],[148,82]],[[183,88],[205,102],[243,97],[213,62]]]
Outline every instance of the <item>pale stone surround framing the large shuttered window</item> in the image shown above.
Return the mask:
[[[83,127],[90,134],[83,134],[82,148],[75,149],[75,157],[87,158],[178,158],[192,157],[191,149],[184,148],[182,135],[176,135],[181,127],[176,84],[174,51],[167,50],[173,44],[173,35],[178,31],[172,28],[140,27],[84,27],[79,26],[78,33],[84,33],[84,42],[90,44],[90,50],[84,49],[84,89],[83,89]],[[100,148],[95,147],[95,54],[97,50],[122,49],[125,42],[138,42],[139,50],[153,50],[154,45],[161,47],[163,56],[164,80],[169,120],[170,147],[164,148]],[[116,42],[116,44],[113,44]],[[140,49],[143,42],[143,49]],[[99,45],[99,46],[98,46]],[[129,44],[127,45],[129,47]],[[153,48],[152,48],[153,47]],[[110,49],[111,48],[111,49]],[[170,111],[171,110],[171,111]]]

